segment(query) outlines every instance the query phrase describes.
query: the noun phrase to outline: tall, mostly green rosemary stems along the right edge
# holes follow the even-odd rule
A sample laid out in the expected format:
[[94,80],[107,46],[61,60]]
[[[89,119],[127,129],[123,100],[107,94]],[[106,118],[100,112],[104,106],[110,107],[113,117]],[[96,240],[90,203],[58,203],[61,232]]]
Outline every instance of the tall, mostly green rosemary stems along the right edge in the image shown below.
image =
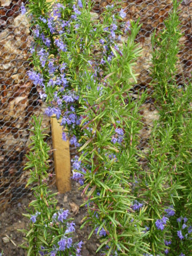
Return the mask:
[[152,84],[159,120],[150,138],[148,170],[143,197],[149,201],[149,241],[153,254],[191,254],[191,101],[189,82],[176,84],[177,54],[182,36],[179,2],[164,21],[165,28],[152,36]]

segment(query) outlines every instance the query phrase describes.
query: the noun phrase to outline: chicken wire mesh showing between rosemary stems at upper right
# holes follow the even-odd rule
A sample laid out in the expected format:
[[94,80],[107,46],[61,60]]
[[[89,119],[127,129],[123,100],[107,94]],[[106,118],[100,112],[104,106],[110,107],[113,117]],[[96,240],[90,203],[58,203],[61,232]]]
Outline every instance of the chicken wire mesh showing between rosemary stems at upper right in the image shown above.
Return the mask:
[[[97,1],[94,10],[98,12],[99,15],[110,2],[111,1],[106,0]],[[143,115],[142,122],[144,123],[144,128],[141,130],[139,147],[141,150],[145,150],[152,128],[152,121],[158,119],[158,112],[155,109],[153,99],[150,96],[153,92],[153,88],[149,85],[151,82],[149,68],[151,65],[150,59],[152,58],[151,36],[155,29],[157,35],[158,32],[164,28],[164,20],[168,17],[173,8],[173,1],[121,1],[121,8],[125,9],[125,20],[136,21],[140,17],[140,23],[143,24],[136,38],[136,41],[140,44],[139,46],[142,47],[143,52],[137,61],[137,65],[134,66],[134,69],[139,76],[137,77],[137,84],[133,87],[132,95],[137,98],[138,91],[141,94],[147,89],[148,92],[148,98],[145,104],[143,104],[143,109],[140,111]],[[120,11],[120,9],[118,11]],[[183,84],[183,77],[185,83],[188,83],[187,78],[191,77],[192,71],[192,1],[183,0],[179,6],[179,11],[183,36],[180,39],[182,47],[178,54],[178,75],[176,76],[178,86]],[[125,40],[125,35],[122,36],[122,40]]]

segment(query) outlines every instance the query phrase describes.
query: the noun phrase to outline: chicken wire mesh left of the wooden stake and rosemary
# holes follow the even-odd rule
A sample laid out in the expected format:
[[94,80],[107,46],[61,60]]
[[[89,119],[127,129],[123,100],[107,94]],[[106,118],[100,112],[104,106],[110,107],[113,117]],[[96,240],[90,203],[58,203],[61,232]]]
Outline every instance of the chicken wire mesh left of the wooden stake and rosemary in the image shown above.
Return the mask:
[[[20,14],[21,1],[2,1],[0,7],[0,209],[28,193],[29,171],[23,172],[30,143],[29,119],[44,113],[44,103],[26,74],[32,41],[29,21]],[[44,116],[44,127],[50,119]],[[51,139],[47,139],[51,146]],[[51,156],[52,158],[52,156]],[[53,166],[50,166],[51,171]]]

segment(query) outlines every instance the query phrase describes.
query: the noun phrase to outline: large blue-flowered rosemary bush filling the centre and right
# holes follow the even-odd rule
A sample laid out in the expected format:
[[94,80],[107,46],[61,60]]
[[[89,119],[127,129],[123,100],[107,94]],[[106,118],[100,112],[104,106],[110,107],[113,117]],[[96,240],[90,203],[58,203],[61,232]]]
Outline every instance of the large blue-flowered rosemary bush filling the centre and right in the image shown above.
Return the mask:
[[118,3],[107,5],[100,20],[91,1],[29,0],[28,7],[34,28],[29,78],[46,99],[46,114],[61,119],[63,139],[70,137],[79,149],[71,160],[72,178],[85,194],[82,227],[88,223],[90,236],[101,236],[97,252],[190,255],[192,85],[176,84],[179,3],[173,1],[164,30],[152,35],[153,97],[160,117],[146,155],[138,149],[146,93],[137,100],[131,96],[141,52],[134,42],[139,20],[125,23],[125,11],[115,12]]

